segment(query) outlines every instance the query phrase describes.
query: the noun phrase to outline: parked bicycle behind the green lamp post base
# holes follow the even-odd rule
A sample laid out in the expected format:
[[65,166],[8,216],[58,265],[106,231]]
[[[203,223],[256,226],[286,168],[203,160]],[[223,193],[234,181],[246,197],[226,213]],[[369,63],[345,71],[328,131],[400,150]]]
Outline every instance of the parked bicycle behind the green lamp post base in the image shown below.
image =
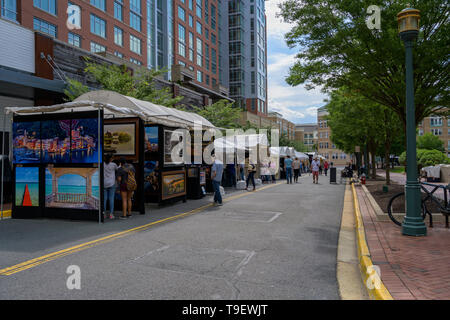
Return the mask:
[[[429,191],[426,186],[430,186],[433,189]],[[423,191],[422,192],[422,199],[421,199],[421,216],[422,219],[425,220],[426,216],[428,215],[430,217],[430,228],[433,227],[433,215],[432,211],[433,209],[438,210],[440,213],[445,215],[445,227],[449,227],[449,215],[450,215],[450,184],[447,186],[443,185],[436,185],[426,182],[420,183],[420,188]],[[444,191],[444,199],[438,198],[434,195],[434,193],[439,190],[443,189]],[[401,192],[393,196],[389,200],[388,204],[388,215],[389,218],[398,226],[402,226],[403,219],[405,216],[405,192]],[[434,211],[436,211],[434,210]],[[436,213],[436,212],[435,212]]]

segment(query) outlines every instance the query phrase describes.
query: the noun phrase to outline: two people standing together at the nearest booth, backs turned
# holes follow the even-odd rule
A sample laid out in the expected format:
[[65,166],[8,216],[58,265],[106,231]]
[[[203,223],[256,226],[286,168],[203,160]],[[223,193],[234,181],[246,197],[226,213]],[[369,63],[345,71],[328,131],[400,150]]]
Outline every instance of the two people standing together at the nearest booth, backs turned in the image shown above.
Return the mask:
[[114,219],[114,200],[116,192],[122,198],[122,215],[120,219],[131,217],[132,199],[134,191],[137,189],[136,169],[132,162],[127,162],[125,158],[118,161],[119,165],[113,162],[112,155],[105,155],[103,166],[104,180],[104,209],[106,211],[109,203],[109,219]]

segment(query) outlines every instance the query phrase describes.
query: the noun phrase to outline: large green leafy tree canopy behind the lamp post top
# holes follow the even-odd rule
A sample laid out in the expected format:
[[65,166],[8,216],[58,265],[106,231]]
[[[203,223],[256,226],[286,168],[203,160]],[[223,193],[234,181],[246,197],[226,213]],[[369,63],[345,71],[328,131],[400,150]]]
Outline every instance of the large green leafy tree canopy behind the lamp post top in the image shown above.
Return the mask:
[[[281,16],[293,25],[285,35],[287,44],[300,48],[287,82],[327,91],[345,86],[389,107],[405,125],[405,53],[396,18],[407,2],[421,11],[414,48],[416,122],[443,112],[450,88],[448,0],[284,1]],[[380,31],[366,25],[372,4],[382,8]]]

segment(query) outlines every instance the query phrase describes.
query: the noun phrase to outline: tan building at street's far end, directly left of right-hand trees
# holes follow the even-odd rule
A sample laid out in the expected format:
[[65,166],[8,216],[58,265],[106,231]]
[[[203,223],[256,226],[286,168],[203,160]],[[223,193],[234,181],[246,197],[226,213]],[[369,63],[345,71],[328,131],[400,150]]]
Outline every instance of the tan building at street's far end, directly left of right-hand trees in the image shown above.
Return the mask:
[[339,150],[331,141],[331,129],[327,124],[328,111],[325,107],[317,110],[317,152],[335,166],[343,166],[349,163],[351,155]]

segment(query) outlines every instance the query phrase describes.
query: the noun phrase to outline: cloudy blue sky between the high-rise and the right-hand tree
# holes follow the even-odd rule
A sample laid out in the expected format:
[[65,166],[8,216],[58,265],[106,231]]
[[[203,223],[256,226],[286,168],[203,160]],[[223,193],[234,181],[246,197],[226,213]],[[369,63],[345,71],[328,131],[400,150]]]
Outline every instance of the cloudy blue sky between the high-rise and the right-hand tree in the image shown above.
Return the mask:
[[284,40],[291,27],[276,17],[281,2],[266,1],[269,112],[279,112],[295,124],[316,123],[317,108],[325,104],[326,95],[318,88],[306,90],[303,85],[292,87],[285,81],[298,49],[290,49]]

